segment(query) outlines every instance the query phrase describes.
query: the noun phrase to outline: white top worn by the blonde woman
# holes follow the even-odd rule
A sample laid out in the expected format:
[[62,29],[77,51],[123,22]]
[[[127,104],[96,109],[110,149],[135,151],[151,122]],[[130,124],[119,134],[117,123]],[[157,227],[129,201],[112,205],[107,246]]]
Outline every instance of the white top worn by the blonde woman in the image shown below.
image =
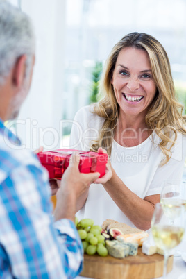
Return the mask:
[[[99,135],[105,119],[93,114],[90,108],[90,106],[83,107],[76,113],[71,128],[70,149],[89,151],[92,140],[96,140]],[[142,199],[160,194],[164,180],[182,178],[186,157],[185,135],[178,133],[171,159],[162,167],[160,167],[160,162],[163,154],[158,147],[158,142],[160,138],[153,132],[137,146],[124,147],[115,140],[112,143],[112,167],[125,185]],[[101,225],[105,219],[114,219],[134,227],[101,184],[90,186],[87,201],[76,216],[79,220],[94,219],[96,225]]]

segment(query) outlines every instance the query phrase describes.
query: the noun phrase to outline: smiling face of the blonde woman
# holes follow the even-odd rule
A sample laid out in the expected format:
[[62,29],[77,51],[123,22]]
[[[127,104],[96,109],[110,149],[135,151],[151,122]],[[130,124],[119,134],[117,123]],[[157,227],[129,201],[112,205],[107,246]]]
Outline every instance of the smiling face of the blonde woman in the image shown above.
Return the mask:
[[143,49],[121,49],[111,81],[120,113],[145,117],[156,92],[148,53]]

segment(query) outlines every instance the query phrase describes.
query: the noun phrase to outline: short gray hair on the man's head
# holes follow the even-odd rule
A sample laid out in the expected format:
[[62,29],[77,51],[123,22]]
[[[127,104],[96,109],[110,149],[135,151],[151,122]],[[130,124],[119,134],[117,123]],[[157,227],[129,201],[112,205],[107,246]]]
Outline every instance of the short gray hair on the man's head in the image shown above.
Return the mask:
[[31,70],[35,36],[31,20],[24,12],[0,0],[0,85],[17,58],[26,55],[26,76]]

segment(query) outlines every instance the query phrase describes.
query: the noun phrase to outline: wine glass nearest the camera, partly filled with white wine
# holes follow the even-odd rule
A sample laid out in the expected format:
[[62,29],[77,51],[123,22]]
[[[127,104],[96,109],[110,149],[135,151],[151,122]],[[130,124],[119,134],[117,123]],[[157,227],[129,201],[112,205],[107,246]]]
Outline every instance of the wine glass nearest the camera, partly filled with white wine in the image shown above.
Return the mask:
[[[168,211],[174,211],[174,223],[169,219]],[[155,245],[164,251],[163,278],[167,274],[167,260],[171,249],[178,246],[183,239],[184,227],[184,206],[172,205],[171,208],[162,203],[155,205],[151,220],[151,229]]]

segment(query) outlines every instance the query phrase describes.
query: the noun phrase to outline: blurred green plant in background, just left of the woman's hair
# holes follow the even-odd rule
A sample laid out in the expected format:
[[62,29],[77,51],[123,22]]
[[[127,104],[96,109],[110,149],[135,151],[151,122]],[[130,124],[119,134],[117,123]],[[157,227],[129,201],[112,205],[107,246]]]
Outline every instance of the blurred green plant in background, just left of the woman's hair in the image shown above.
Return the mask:
[[96,103],[98,101],[98,93],[99,93],[99,81],[101,78],[101,73],[103,71],[102,62],[96,62],[96,65],[92,71],[92,86],[91,86],[91,94],[90,94],[90,103]]

